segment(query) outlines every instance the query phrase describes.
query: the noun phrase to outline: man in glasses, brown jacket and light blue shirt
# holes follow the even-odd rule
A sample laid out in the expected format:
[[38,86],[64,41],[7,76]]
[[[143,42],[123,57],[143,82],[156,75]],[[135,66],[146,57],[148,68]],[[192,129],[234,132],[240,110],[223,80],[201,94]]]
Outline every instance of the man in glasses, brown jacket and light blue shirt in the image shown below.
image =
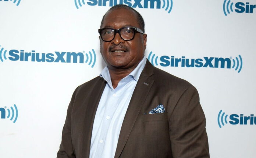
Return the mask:
[[146,60],[141,15],[114,6],[100,28],[107,67],[75,90],[57,158],[208,158],[198,92]]

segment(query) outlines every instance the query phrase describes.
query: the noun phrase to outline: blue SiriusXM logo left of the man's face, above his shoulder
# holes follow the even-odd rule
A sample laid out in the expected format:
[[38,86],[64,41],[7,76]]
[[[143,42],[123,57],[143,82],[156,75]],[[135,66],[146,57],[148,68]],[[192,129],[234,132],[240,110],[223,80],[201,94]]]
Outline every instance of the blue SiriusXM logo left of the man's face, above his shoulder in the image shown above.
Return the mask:
[[75,52],[65,52],[65,51],[54,51],[54,53],[36,53],[35,50],[31,52],[25,52],[24,50],[7,50],[0,46],[0,62],[7,60],[11,61],[33,61],[33,62],[67,62],[67,63],[87,63],[90,67],[94,67],[96,62],[96,54],[92,49],[89,53],[75,53]]

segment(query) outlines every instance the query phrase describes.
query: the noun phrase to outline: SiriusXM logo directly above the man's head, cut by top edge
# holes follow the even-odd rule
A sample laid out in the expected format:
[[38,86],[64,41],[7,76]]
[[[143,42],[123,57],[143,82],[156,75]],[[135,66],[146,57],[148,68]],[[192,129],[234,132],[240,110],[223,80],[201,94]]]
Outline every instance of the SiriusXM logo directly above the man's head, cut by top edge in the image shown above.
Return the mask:
[[171,12],[173,8],[173,0],[163,0],[163,4],[161,4],[161,0],[75,0],[75,7],[78,9],[82,7],[82,5],[89,5],[89,6],[115,6],[118,4],[125,4],[132,8],[156,8],[160,9],[163,8],[168,13]]

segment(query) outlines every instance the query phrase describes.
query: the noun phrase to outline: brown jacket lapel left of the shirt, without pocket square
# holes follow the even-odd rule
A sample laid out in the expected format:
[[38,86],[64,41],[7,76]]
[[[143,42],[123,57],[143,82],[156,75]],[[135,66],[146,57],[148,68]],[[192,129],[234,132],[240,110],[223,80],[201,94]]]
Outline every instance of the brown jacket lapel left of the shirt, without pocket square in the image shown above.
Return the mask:
[[89,100],[83,103],[85,107],[84,110],[84,125],[83,125],[83,136],[81,140],[81,157],[89,158],[90,155],[90,143],[92,137],[92,128],[99,105],[100,98],[102,96],[103,90],[106,86],[106,82],[103,78],[100,78],[99,81],[95,83],[95,86],[92,88],[92,91],[89,96]]

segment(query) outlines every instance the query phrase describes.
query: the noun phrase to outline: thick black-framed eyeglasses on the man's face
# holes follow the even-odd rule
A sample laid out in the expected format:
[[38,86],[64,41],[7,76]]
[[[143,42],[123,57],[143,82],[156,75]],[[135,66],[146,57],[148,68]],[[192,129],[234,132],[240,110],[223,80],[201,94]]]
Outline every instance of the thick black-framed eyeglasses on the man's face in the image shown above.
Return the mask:
[[100,37],[105,42],[113,40],[116,33],[118,33],[123,40],[132,40],[136,32],[144,35],[144,32],[136,27],[124,27],[118,30],[112,28],[99,29]]

